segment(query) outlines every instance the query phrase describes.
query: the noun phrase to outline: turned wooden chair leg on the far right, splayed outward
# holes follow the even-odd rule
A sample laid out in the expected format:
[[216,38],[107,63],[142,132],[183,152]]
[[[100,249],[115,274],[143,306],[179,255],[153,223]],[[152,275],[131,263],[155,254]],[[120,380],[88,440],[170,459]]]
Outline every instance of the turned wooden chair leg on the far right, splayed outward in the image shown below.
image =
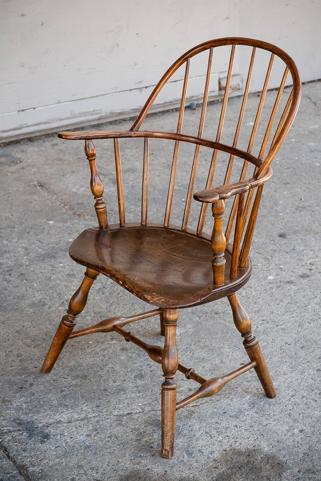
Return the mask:
[[254,368],[257,373],[257,377],[260,380],[266,395],[270,398],[276,397],[277,394],[260,345],[257,341],[257,338],[252,334],[250,318],[241,306],[236,294],[228,296],[228,300],[231,304],[235,327],[239,332],[241,332],[241,335],[244,338],[243,345],[247,355],[251,361],[257,363],[256,367]]

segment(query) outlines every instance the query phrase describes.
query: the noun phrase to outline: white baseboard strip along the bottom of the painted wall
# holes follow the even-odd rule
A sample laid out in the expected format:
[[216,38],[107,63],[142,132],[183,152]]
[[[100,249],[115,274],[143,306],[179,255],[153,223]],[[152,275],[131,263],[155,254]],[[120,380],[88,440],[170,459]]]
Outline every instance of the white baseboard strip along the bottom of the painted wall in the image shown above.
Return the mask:
[[[242,79],[239,75],[232,76],[231,95],[239,95],[242,91]],[[218,73],[211,74],[208,100],[222,97],[218,90],[220,81],[224,78]],[[191,101],[202,101],[205,76],[189,79],[189,98]],[[182,80],[167,82],[167,90],[160,92],[150,112],[161,112],[180,106]],[[220,82],[221,84],[222,82]],[[122,92],[108,93],[85,99],[44,105],[17,112],[0,114],[0,141],[9,141],[35,135],[58,132],[65,128],[86,126],[98,122],[116,120],[137,115],[154,86],[131,89]]]

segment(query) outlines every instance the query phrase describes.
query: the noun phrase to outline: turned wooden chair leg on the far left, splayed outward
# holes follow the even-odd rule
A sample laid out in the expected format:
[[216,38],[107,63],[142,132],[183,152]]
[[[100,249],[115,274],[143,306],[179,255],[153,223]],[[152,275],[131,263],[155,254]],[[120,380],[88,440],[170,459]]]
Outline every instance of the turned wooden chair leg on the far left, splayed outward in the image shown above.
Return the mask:
[[86,269],[85,277],[83,278],[82,283],[69,301],[67,314],[64,315],[60,321],[56,334],[51,342],[49,351],[41,367],[41,372],[48,373],[54,366],[54,363],[58,359],[59,354],[62,352],[68,337],[76,326],[76,317],[78,317],[87,304],[90,287],[92,286],[93,281],[97,279],[98,275],[99,272],[89,268]]

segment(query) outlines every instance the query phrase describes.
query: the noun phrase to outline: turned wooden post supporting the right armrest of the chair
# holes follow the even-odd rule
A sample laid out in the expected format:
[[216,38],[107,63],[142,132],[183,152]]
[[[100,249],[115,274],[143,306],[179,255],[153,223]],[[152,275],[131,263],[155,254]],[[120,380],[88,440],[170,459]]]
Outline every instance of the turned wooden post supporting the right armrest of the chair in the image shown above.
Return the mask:
[[212,215],[214,217],[214,228],[211,238],[211,248],[213,251],[212,267],[215,286],[224,284],[224,269],[226,260],[224,251],[226,247],[225,236],[222,228],[225,204],[223,200],[212,203]]

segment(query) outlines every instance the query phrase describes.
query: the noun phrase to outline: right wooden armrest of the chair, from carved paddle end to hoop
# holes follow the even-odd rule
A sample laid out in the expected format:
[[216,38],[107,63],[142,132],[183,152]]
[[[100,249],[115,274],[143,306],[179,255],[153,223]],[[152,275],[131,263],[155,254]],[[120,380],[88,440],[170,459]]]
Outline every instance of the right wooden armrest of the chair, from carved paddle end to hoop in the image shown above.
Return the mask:
[[205,203],[215,203],[219,199],[229,199],[232,195],[243,194],[254,187],[258,187],[269,180],[273,171],[271,167],[267,170],[264,177],[261,179],[256,179],[254,177],[243,180],[241,182],[234,182],[233,184],[221,185],[220,187],[215,187],[213,189],[200,190],[193,194],[195,201],[205,202]]

